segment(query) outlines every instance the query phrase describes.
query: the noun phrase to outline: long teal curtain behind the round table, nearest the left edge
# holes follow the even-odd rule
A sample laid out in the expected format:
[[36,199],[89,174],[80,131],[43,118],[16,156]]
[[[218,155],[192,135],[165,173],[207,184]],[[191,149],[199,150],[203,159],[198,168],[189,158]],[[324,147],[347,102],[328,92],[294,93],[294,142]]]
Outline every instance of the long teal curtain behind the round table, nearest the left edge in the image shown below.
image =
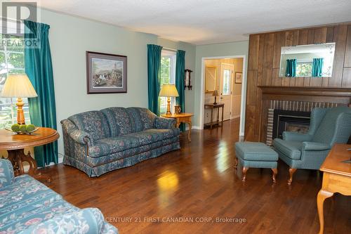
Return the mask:
[[[35,126],[57,129],[55,93],[53,86],[53,65],[48,41],[49,25],[25,20],[25,72],[32,82],[37,98],[28,98],[29,115]],[[58,144],[55,141],[34,148],[34,157],[39,167],[51,162],[58,163]]]

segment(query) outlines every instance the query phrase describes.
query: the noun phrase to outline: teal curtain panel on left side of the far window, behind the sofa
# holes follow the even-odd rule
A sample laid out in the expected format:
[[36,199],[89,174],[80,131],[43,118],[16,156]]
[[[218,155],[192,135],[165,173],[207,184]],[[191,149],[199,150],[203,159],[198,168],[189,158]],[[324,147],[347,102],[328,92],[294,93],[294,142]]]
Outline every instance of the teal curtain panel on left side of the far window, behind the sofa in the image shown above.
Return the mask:
[[162,46],[147,45],[147,91],[149,110],[159,116],[159,91]]

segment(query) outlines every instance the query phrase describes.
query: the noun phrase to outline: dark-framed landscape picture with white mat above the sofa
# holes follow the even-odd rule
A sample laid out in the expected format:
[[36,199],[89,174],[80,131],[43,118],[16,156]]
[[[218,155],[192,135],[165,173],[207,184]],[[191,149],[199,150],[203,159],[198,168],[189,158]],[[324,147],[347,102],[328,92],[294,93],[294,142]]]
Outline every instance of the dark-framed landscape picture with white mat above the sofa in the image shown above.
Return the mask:
[[86,91],[127,92],[127,56],[86,51]]

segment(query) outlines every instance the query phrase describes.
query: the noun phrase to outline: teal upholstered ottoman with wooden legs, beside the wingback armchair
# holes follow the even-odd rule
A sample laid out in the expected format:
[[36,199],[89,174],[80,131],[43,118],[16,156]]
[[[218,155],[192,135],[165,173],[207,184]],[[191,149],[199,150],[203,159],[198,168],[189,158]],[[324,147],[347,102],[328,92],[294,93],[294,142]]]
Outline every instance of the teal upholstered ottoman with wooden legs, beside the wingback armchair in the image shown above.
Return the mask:
[[269,146],[260,142],[237,142],[235,143],[235,154],[237,156],[235,167],[237,167],[238,160],[243,166],[242,181],[246,181],[246,171],[250,167],[256,167],[272,169],[273,183],[276,182],[278,154]]

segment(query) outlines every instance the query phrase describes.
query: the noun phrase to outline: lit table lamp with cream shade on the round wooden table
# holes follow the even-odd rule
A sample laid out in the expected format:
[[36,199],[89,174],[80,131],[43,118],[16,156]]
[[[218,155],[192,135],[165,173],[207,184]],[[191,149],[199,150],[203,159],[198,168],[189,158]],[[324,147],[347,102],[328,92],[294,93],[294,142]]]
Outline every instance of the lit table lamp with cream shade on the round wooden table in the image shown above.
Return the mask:
[[0,94],[4,98],[17,98],[17,123],[25,124],[22,98],[35,98],[38,96],[27,74],[8,74]]

